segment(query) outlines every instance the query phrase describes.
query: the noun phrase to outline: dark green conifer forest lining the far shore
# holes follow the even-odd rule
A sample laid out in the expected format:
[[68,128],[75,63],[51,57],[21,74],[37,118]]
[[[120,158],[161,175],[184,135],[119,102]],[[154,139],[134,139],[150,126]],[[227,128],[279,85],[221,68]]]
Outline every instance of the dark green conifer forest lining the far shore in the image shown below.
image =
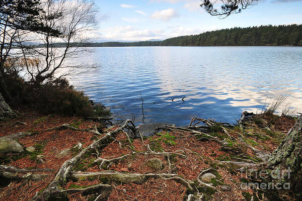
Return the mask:
[[[179,36],[164,41],[102,42],[74,44],[82,47],[136,47],[136,46],[302,46],[302,25],[260,26],[204,32]],[[63,47],[64,43],[56,43]]]

